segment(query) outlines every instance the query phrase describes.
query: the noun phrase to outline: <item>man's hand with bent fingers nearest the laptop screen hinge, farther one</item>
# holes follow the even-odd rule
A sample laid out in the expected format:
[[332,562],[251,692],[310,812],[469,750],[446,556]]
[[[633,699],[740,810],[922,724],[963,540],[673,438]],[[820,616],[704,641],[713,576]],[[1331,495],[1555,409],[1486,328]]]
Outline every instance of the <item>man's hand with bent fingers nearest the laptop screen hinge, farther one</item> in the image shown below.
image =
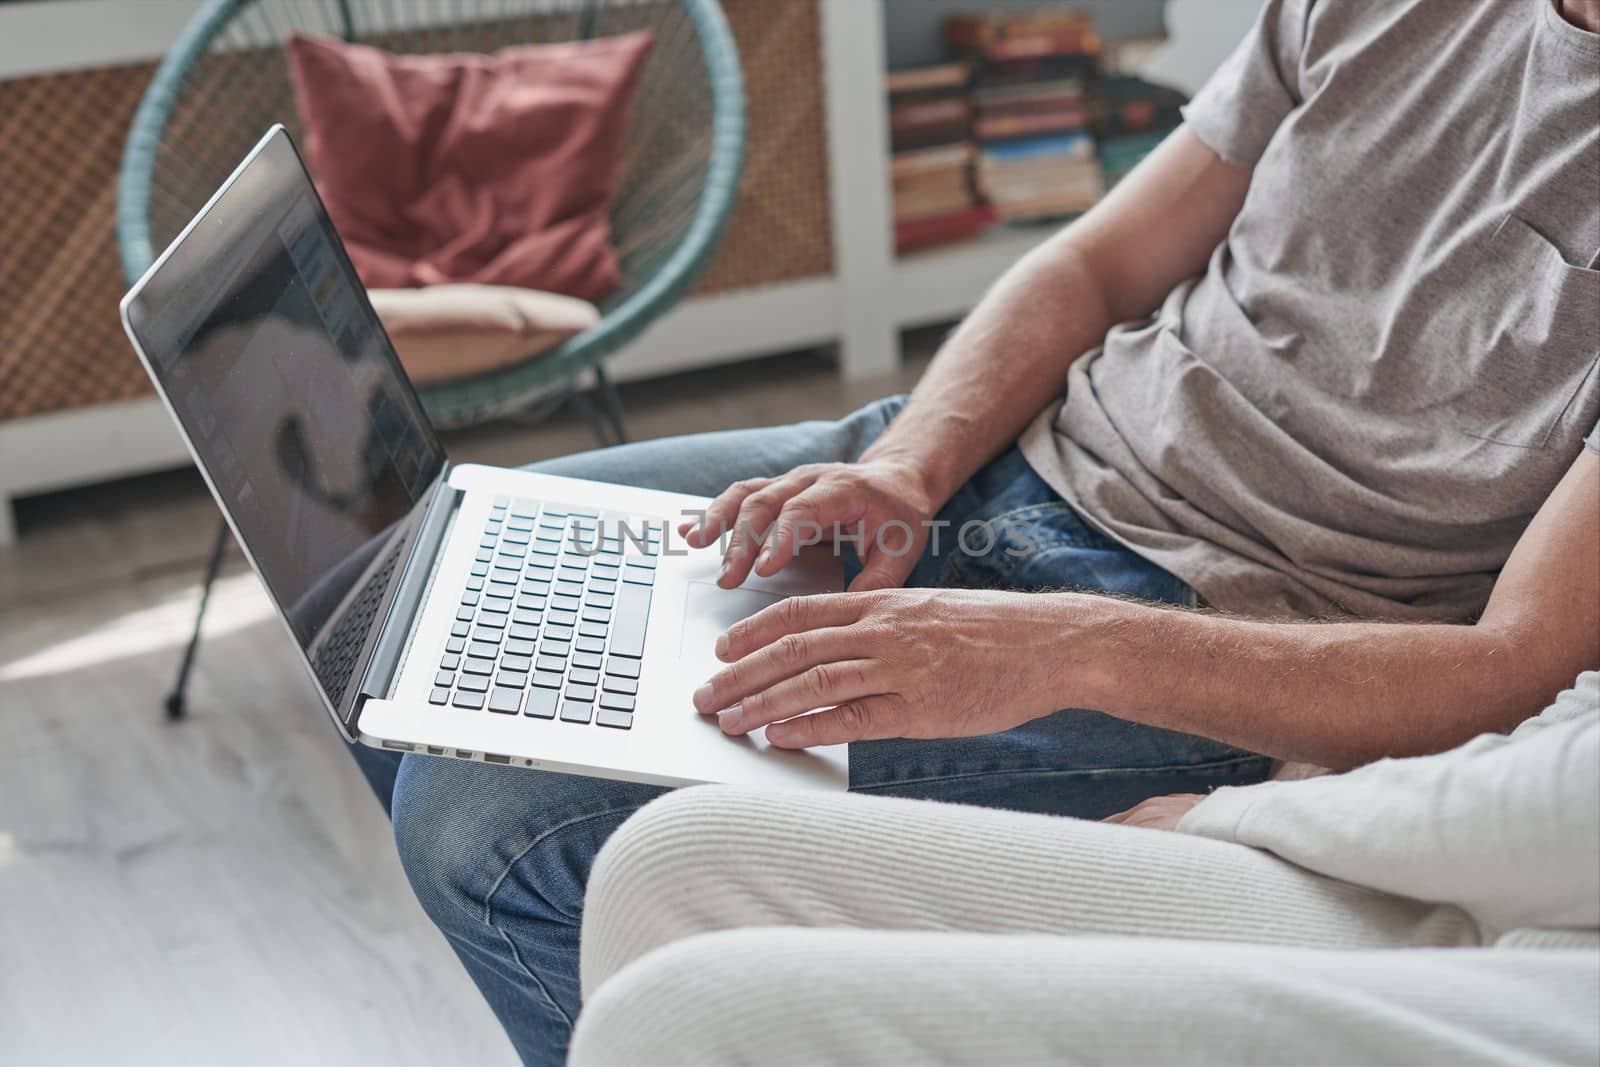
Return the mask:
[[894,589],[922,557],[928,520],[941,504],[910,462],[808,464],[778,478],[736,482],[678,533],[696,549],[730,534],[717,584],[733,589],[752,569],[776,574],[806,544],[832,541],[837,525],[845,534],[861,534],[862,571],[851,592]]

